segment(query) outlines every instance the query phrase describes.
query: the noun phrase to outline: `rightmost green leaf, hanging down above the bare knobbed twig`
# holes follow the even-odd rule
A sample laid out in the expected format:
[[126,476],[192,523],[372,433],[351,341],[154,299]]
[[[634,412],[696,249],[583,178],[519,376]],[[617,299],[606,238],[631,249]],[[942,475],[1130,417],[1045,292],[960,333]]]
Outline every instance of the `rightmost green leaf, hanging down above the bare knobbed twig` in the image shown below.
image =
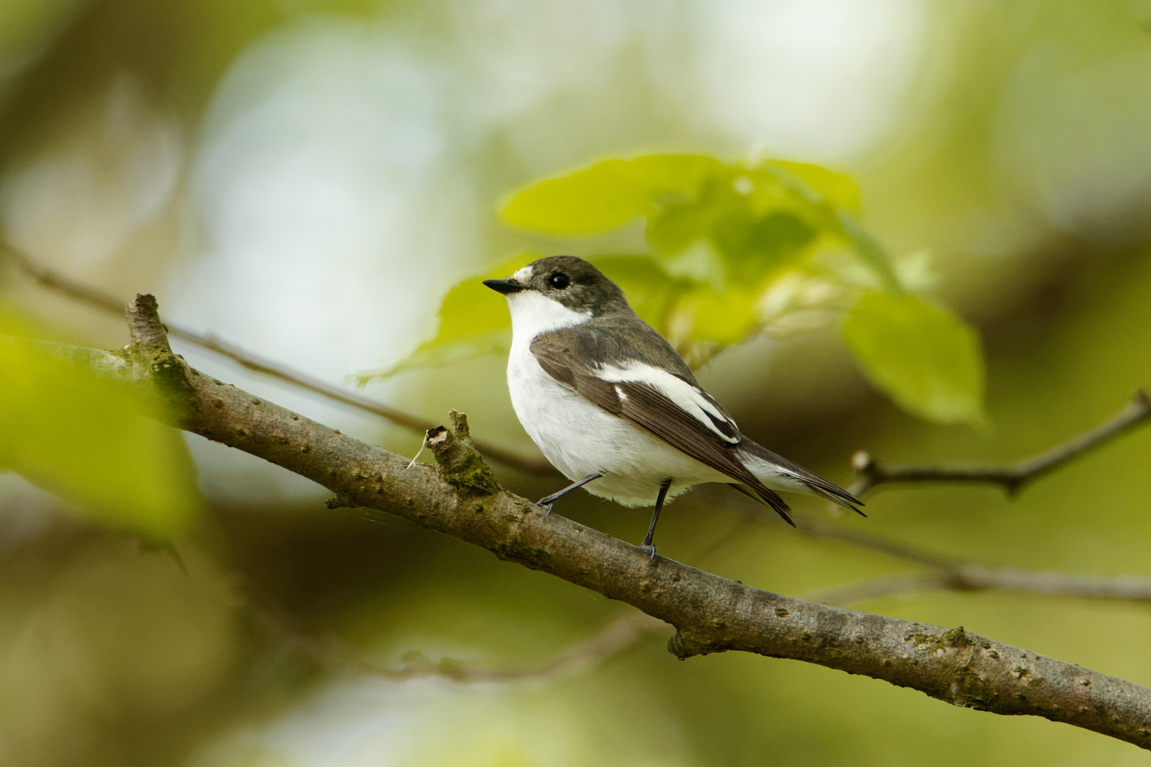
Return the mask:
[[906,411],[939,423],[984,422],[980,338],[948,310],[917,296],[864,291],[843,335],[868,378]]

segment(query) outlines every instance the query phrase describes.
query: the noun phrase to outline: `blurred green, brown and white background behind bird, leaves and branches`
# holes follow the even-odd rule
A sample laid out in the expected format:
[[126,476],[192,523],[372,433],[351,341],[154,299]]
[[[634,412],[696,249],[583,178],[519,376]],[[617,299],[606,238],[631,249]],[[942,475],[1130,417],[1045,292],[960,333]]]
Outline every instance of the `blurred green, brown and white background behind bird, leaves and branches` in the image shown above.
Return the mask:
[[[703,385],[744,431],[840,483],[860,448],[889,462],[1014,460],[1151,383],[1149,30],[1142,0],[6,0],[0,233],[125,300],[155,293],[174,323],[344,383],[430,337],[460,278],[518,250],[587,252],[502,225],[510,190],[608,156],[770,149],[849,172],[890,252],[930,254],[931,294],[982,336],[989,425],[898,409],[833,328],[729,348]],[[637,231],[615,237],[623,252]],[[2,258],[0,290],[6,314],[53,338],[127,340],[122,320]],[[419,447],[418,434],[177,351],[350,434]],[[491,354],[367,392],[434,420],[465,411],[477,436],[538,455],[503,368]],[[820,667],[679,662],[657,631],[563,678],[363,673],[323,650],[342,646],[331,637],[382,668],[517,669],[627,608],[401,521],[328,512],[310,482],[186,443],[203,496],[188,506],[206,511],[176,540],[178,560],[0,475],[0,762],[1143,759]],[[993,566],[1151,576],[1149,459],[1151,431],[1137,431],[1014,500],[939,486],[877,493],[867,520],[796,506]],[[559,482],[501,471],[528,497]],[[794,596],[915,572],[746,524],[729,496],[669,507],[661,553]],[[586,496],[557,512],[627,540],[647,523]],[[923,592],[852,606],[1151,683],[1144,605]]]

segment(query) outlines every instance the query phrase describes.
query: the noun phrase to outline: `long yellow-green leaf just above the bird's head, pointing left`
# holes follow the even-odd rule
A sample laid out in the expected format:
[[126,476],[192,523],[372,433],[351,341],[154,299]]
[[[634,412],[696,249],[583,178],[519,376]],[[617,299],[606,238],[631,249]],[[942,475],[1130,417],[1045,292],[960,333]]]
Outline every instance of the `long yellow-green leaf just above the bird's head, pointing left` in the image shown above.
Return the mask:
[[604,160],[513,192],[500,218],[548,235],[610,231],[655,213],[657,204],[694,199],[710,176],[726,172],[718,160],[698,154]]

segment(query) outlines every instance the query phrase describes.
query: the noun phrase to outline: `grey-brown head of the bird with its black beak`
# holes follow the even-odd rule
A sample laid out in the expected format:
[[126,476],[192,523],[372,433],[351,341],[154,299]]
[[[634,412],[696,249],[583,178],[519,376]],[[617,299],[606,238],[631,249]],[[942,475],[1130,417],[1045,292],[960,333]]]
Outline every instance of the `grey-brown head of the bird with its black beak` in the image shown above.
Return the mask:
[[504,296],[538,291],[572,312],[593,317],[613,312],[631,313],[619,285],[574,255],[552,255],[527,264],[508,279],[485,279],[483,284]]

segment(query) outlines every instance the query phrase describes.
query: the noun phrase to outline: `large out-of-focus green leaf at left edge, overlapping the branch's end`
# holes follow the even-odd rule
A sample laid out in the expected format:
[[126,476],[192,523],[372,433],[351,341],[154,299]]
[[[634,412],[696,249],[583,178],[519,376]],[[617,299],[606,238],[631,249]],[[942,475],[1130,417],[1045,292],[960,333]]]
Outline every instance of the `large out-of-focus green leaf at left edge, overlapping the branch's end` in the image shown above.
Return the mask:
[[178,535],[199,508],[183,439],[150,417],[159,401],[98,376],[82,356],[0,336],[0,468],[97,522],[151,538]]

